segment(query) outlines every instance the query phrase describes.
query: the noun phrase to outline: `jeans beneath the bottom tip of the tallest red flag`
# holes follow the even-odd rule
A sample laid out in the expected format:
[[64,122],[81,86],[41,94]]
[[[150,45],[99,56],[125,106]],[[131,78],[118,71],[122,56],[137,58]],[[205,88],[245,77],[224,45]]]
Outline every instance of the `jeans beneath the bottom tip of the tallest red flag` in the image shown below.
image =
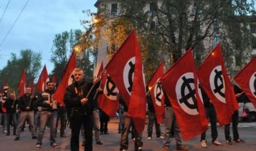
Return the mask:
[[[123,131],[121,133],[121,142],[120,142],[120,150],[128,150],[128,135],[129,135],[129,131],[130,128],[133,127],[133,121],[131,119],[130,116],[124,116],[124,121],[123,121]],[[135,128],[134,128],[135,130]],[[143,146],[143,142],[142,142],[142,133],[138,133],[135,130],[135,142],[134,142],[134,147],[135,147],[135,151],[138,150],[138,147],[142,147]]]

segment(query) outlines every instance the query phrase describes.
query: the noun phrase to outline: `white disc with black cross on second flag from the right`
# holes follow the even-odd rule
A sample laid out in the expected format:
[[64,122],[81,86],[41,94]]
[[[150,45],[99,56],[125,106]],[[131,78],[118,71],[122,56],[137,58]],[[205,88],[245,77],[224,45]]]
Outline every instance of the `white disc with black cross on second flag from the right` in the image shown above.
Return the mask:
[[[226,98],[221,96],[221,94],[225,94],[224,77],[223,77],[223,74],[221,74],[221,77],[217,77],[216,72],[222,72],[221,65],[216,66],[214,69],[212,69],[212,72],[210,72],[210,78],[209,78],[210,89],[212,90],[212,93],[219,101],[221,101],[222,103],[226,103]],[[222,81],[220,78],[222,78]],[[219,89],[218,87],[221,87],[221,85],[222,85],[222,88],[218,90]]]

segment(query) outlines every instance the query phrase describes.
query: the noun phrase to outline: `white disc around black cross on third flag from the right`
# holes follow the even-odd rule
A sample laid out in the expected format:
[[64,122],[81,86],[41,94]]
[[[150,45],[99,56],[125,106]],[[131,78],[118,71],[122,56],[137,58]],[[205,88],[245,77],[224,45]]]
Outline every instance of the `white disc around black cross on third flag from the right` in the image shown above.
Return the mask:
[[[178,104],[180,105],[181,109],[183,109],[183,111],[188,113],[188,115],[198,115],[197,108],[195,108],[195,109],[189,108],[188,106],[186,106],[186,104],[184,102],[181,103],[181,101],[180,101],[182,98],[184,98],[184,96],[182,96],[182,92],[181,91],[184,91],[185,95],[191,93],[190,90],[188,89],[188,85],[186,85],[184,87],[185,89],[183,89],[183,87],[182,87],[183,83],[185,82],[183,80],[184,77],[186,79],[193,79],[193,80],[195,80],[193,72],[187,72],[187,73],[183,74],[182,76],[180,76],[180,78],[178,79],[178,81],[176,83],[176,86],[175,86],[175,92],[176,92],[176,97],[177,97],[177,100],[178,100]],[[195,90],[195,83],[194,82],[190,82],[188,84],[189,84],[189,87],[191,87],[192,90]],[[194,94],[194,97],[197,98],[196,94]],[[186,101],[187,101],[188,104],[195,105],[195,103],[193,102],[192,97],[186,99]]]

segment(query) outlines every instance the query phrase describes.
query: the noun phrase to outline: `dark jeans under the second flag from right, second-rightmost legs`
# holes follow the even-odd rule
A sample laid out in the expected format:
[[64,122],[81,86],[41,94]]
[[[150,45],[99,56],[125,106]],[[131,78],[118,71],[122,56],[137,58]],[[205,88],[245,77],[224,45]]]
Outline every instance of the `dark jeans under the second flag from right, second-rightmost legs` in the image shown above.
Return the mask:
[[[212,135],[212,142],[214,142],[217,137],[218,137],[218,132],[217,132],[217,115],[214,106],[210,106],[208,108],[205,108],[205,113],[207,118],[210,119],[210,131]],[[205,133],[201,134],[201,141],[205,140]]]

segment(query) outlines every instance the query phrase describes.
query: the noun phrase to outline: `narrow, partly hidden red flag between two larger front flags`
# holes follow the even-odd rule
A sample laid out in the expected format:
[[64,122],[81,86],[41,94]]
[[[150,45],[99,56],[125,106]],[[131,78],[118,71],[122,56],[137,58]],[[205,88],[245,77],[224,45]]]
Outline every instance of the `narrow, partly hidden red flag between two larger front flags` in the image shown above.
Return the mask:
[[159,82],[159,79],[162,76],[164,76],[164,64],[161,62],[161,64],[159,65],[157,70],[155,70],[155,73],[147,83],[149,90],[152,89],[150,91],[150,96],[154,104],[157,123],[161,123],[164,116],[164,92],[162,91],[162,86]]

